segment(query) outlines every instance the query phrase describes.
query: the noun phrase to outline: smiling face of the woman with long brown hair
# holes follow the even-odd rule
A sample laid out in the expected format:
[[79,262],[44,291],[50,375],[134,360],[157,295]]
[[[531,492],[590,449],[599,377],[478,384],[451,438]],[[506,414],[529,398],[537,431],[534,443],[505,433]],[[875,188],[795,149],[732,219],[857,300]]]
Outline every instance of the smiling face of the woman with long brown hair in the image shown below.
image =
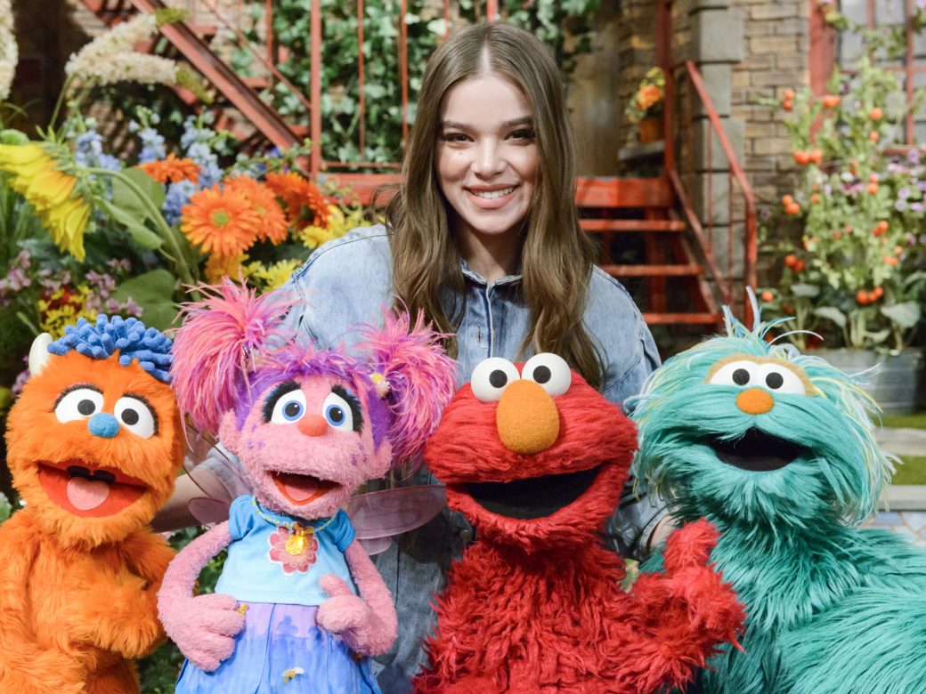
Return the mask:
[[500,235],[531,208],[540,155],[531,106],[497,74],[462,81],[441,103],[437,175],[457,234]]

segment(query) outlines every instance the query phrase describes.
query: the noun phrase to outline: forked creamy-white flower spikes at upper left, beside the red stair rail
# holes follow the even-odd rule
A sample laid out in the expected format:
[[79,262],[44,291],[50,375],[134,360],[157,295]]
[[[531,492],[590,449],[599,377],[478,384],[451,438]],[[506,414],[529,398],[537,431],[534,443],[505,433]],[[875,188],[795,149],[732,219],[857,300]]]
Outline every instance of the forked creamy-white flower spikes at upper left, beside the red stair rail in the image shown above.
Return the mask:
[[151,36],[156,29],[154,15],[133,17],[70,56],[65,72],[68,77],[100,84],[121,81],[174,84],[177,81],[177,63],[165,57],[144,56],[133,50],[136,43]]

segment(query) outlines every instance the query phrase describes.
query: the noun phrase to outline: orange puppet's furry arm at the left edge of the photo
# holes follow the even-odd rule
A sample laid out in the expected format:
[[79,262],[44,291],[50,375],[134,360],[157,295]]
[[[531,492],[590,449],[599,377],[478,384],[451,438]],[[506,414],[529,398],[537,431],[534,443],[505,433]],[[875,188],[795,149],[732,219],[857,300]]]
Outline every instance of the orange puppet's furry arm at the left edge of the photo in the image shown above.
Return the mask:
[[81,694],[83,666],[56,648],[55,635],[46,635],[40,644],[31,619],[31,595],[43,592],[31,585],[41,541],[24,511],[0,527],[0,691]]

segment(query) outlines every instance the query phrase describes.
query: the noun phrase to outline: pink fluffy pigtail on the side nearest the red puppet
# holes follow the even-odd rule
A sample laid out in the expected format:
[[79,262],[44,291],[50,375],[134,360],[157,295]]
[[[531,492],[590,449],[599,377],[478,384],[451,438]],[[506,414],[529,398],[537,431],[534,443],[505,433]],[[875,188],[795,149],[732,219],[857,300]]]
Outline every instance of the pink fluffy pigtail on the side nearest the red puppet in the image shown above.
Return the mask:
[[406,311],[384,309],[382,315],[384,327],[362,328],[357,348],[369,354],[374,385],[389,403],[389,440],[398,465],[415,461],[437,427],[457,389],[457,365],[440,345],[444,335],[425,326],[423,314],[414,326]]

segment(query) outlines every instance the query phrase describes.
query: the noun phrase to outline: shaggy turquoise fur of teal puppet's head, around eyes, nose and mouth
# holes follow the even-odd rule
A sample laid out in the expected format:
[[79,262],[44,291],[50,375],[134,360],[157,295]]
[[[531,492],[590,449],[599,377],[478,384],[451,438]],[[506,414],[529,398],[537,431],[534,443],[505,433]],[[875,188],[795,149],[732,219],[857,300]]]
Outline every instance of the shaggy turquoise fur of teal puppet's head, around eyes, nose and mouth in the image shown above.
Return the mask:
[[[792,344],[770,341],[772,328],[787,319],[763,323],[755,307],[754,315],[750,329],[725,309],[726,335],[670,358],[627,402],[640,435],[634,464],[638,484],[659,490],[683,516],[705,514],[720,504],[747,521],[784,517],[803,524],[800,509],[824,504],[860,522],[876,507],[893,472],[874,436],[870,415],[878,413],[876,403],[857,377]],[[706,383],[711,367],[735,354],[797,367],[807,376],[811,396],[776,395],[773,414],[746,415],[733,405],[734,389]],[[707,437],[738,440],[759,419],[765,433],[801,446],[802,462],[777,476],[744,475],[723,465],[706,474],[707,464],[699,464],[698,456],[707,460],[708,450],[698,443]]]

